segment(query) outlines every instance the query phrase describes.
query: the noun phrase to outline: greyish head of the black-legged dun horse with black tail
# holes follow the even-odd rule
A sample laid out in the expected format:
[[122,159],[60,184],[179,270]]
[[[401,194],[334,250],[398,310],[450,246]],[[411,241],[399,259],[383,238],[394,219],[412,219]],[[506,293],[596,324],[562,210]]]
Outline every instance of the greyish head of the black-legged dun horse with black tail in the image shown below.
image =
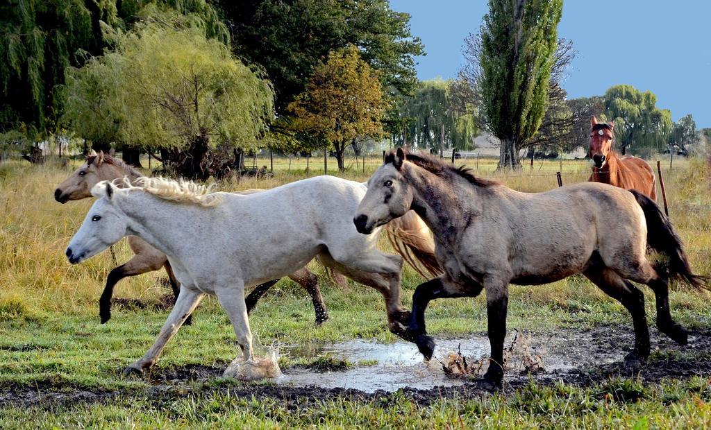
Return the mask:
[[358,205],[353,223],[359,233],[370,235],[375,227],[401,217],[412,206],[412,188],[402,176],[405,152],[398,148],[370,177],[368,192]]

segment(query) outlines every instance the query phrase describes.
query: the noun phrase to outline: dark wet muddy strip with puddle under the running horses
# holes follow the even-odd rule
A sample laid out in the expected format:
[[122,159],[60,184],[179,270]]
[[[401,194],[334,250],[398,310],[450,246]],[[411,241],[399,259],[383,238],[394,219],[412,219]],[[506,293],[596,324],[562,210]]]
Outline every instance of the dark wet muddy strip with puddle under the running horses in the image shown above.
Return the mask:
[[[507,342],[514,335],[512,332]],[[692,330],[689,344],[685,347],[673,343],[663,334],[651,328],[652,335],[652,357],[638,370],[631,369],[624,365],[624,355],[631,350],[634,344],[634,335],[629,326],[603,326],[592,330],[561,330],[557,333],[529,333],[526,332],[530,340],[533,353],[542,357],[545,370],[531,375],[525,370],[508,370],[503,386],[503,392],[513,392],[515,389],[528,384],[529,378],[533,378],[540,385],[552,385],[557,381],[567,384],[586,387],[602,382],[609,377],[640,377],[644,383],[655,383],[665,378],[686,379],[695,375],[711,376],[711,329],[702,328]],[[462,346],[462,355],[471,360],[481,358],[470,356],[472,350],[479,350],[479,347],[486,342],[486,337],[481,334],[471,336],[471,344]],[[437,340],[437,339],[436,339]],[[466,340],[439,340],[440,344],[447,345],[445,349],[436,350],[438,357],[447,353],[446,348],[456,343],[466,342]],[[365,345],[365,344],[364,344]],[[399,344],[397,344],[399,345]],[[395,348],[398,348],[395,345]],[[352,344],[351,344],[352,346]],[[387,345],[380,345],[387,346]],[[467,349],[469,348],[469,350]],[[474,348],[474,349],[472,349]],[[289,348],[285,348],[289,353]],[[333,348],[333,356],[338,357],[338,348]],[[451,348],[450,348],[451,349]],[[382,350],[378,347],[376,350]],[[293,353],[303,353],[298,349]],[[314,353],[321,354],[322,350]],[[329,351],[331,353],[331,351]],[[347,353],[347,351],[346,351]],[[486,344],[488,353],[488,343]],[[383,358],[385,363],[371,365],[368,367],[355,366],[355,369],[367,369],[370,377],[378,380],[388,380],[390,372],[397,372],[398,367],[405,369],[422,370],[426,365],[419,362],[413,364],[415,355],[405,354],[402,358],[404,362],[392,362],[392,357]],[[346,357],[348,358],[348,357]],[[356,357],[360,358],[360,356]],[[382,357],[381,357],[382,358]],[[390,360],[390,361],[388,361]],[[418,359],[419,360],[419,359]],[[375,360],[372,360],[375,361]],[[382,360],[381,360],[382,361]],[[397,360],[396,360],[397,361]],[[225,363],[225,366],[227,363]],[[346,377],[352,369],[331,368],[326,373],[319,376],[319,372],[324,369],[309,369],[303,367],[292,367],[284,369],[285,380],[276,382],[274,385],[240,385],[240,384],[210,384],[219,378],[225,366],[201,366],[190,365],[186,367],[163,368],[160,365],[147,376],[151,387],[149,389],[134,389],[107,392],[99,389],[87,389],[86,387],[71,387],[53,385],[48,382],[38,383],[32,386],[6,385],[0,387],[0,407],[9,404],[16,406],[29,406],[32,404],[53,404],[53,403],[75,403],[75,402],[107,402],[113,397],[124,395],[139,395],[161,402],[166,399],[174,399],[190,394],[201,394],[216,391],[229,391],[235,396],[257,398],[272,397],[281,399],[294,408],[299,404],[314,400],[324,400],[333,397],[348,397],[355,400],[375,400],[387,399],[393,392],[399,391],[413,402],[418,404],[429,404],[435,399],[442,397],[471,398],[479,397],[491,392],[491,387],[476,381],[463,380],[461,377],[452,378],[443,376],[444,372],[430,364],[427,366],[427,375],[416,379],[425,380],[429,375],[437,378],[444,378],[441,385],[434,385],[432,388],[422,389],[398,386],[397,390],[378,389],[378,385],[369,385],[365,389],[355,389],[358,387],[359,374],[355,373],[348,382]],[[407,367],[411,366],[411,367]],[[419,367],[417,367],[419,366]],[[306,375],[304,377],[304,375]],[[326,377],[326,375],[328,377]],[[328,387],[329,380],[346,380],[341,387]],[[311,378],[311,379],[309,379]],[[392,379],[392,378],[391,378]],[[311,381],[313,384],[326,386],[316,387],[314,385],[300,385]],[[326,382],[324,382],[326,381]],[[439,380],[434,380],[435,382]],[[202,384],[201,382],[208,382]],[[419,382],[418,382],[419,383]]]

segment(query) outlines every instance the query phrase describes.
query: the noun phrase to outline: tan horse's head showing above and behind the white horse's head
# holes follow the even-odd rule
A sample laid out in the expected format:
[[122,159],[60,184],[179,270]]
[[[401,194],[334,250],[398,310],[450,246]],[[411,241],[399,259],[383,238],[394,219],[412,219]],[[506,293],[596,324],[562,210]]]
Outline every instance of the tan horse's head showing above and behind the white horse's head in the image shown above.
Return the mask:
[[91,189],[100,181],[123,178],[124,169],[109,162],[111,158],[102,151],[92,151],[86,161],[54,190],[54,199],[59,203],[91,197]]

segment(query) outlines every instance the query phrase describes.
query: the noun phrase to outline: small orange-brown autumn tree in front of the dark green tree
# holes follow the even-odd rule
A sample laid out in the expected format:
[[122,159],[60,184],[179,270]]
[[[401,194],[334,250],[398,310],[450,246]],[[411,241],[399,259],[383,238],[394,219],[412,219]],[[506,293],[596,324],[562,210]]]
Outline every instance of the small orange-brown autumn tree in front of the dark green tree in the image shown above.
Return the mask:
[[338,170],[348,146],[383,134],[385,99],[378,72],[371,69],[353,45],[328,55],[289,104],[294,127],[333,149]]

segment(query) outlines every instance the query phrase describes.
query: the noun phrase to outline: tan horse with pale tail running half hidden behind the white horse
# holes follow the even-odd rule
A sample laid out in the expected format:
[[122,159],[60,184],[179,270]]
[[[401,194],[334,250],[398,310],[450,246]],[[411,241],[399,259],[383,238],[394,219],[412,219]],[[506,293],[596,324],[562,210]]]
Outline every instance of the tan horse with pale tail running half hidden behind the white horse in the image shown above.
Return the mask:
[[[54,198],[59,203],[90,198],[92,196],[91,189],[100,181],[113,181],[114,179],[124,177],[129,178],[130,181],[136,181],[138,178],[143,178],[144,176],[141,172],[137,171],[137,169],[127,165],[118,158],[104,154],[102,151],[99,151],[98,154],[92,151],[92,154],[87,156],[85,163],[57,186],[54,192]],[[119,184],[119,186],[121,185]],[[260,190],[248,190],[242,191],[242,193],[255,193],[259,191]],[[388,239],[392,242],[397,252],[401,254],[417,272],[422,274],[422,276],[427,277],[428,274],[430,276],[438,275],[441,273],[441,270],[437,266],[437,259],[434,257],[434,244],[432,243],[427,226],[422,223],[422,220],[419,220],[419,217],[417,217],[415,213],[411,212],[403,218],[403,222],[392,225],[392,227],[387,229],[386,233]],[[129,276],[154,272],[164,267],[168,274],[173,297],[175,300],[178,299],[180,285],[178,284],[175,274],[173,274],[173,269],[168,262],[166,254],[151,247],[151,245],[136,236],[129,236],[128,242],[129,247],[131,247],[135,255],[128,262],[114,267],[114,269],[109,272],[109,276],[107,276],[106,286],[99,300],[99,313],[102,323],[106,323],[111,318],[111,299],[114,286]],[[331,275],[338,284],[346,282],[343,275],[338,272],[331,271]],[[321,296],[318,276],[304,267],[290,274],[289,278],[301,285],[306,292],[309,293],[309,296],[311,296],[311,301],[314,304],[314,313],[316,314],[316,324],[321,324],[326,321],[328,319],[328,311],[326,310],[326,303],[324,303],[324,299]],[[257,305],[257,301],[259,301],[277,281],[279,280],[274,279],[265,282],[252,290],[245,298],[247,312],[252,311],[252,308]],[[186,324],[189,324],[190,321],[191,319],[188,318]]]

